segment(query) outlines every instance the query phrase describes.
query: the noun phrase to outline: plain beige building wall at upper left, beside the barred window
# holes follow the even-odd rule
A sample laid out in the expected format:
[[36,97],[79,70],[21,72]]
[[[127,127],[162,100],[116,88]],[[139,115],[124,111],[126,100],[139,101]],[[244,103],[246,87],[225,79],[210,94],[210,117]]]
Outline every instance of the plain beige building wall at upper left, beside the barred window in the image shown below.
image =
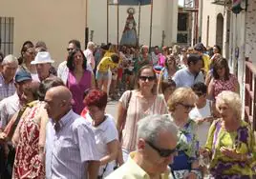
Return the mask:
[[0,16],[14,17],[14,55],[26,40],[46,42],[55,66],[64,60],[68,41],[84,44],[84,0],[0,0]]

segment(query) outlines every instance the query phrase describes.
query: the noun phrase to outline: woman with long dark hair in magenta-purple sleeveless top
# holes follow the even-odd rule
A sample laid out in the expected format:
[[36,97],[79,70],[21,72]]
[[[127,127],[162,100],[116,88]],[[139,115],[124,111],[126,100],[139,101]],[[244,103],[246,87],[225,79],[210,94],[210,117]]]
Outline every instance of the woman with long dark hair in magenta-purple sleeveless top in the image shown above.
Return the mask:
[[82,50],[75,50],[69,54],[67,67],[61,75],[62,80],[72,92],[75,113],[80,114],[84,108],[83,92],[95,87],[95,76],[91,70],[87,70],[87,60]]

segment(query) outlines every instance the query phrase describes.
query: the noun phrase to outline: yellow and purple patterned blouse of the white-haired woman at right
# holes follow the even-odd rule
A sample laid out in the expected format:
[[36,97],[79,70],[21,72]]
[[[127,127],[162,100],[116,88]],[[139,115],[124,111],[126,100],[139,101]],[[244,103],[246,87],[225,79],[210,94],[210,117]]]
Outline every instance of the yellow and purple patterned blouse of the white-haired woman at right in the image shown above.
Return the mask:
[[[222,147],[246,154],[247,160],[238,161],[225,156],[220,150]],[[215,178],[251,178],[251,175],[255,174],[254,138],[250,126],[245,121],[241,120],[239,129],[232,132],[222,127],[222,119],[214,121],[209,129],[205,148],[212,151],[210,173]]]

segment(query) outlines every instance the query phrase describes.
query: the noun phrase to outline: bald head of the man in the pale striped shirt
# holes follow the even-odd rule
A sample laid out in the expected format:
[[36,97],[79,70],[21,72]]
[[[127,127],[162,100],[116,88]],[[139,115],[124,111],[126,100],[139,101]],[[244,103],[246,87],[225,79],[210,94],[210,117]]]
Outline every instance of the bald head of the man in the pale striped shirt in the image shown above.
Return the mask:
[[55,121],[63,117],[72,107],[72,93],[64,86],[53,87],[46,92],[45,102],[48,115]]

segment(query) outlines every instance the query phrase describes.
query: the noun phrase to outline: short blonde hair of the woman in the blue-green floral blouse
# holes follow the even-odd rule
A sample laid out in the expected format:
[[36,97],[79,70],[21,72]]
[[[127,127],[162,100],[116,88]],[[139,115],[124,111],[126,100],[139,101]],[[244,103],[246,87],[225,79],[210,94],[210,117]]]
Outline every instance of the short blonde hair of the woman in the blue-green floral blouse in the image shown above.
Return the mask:
[[167,106],[169,111],[174,111],[178,103],[182,103],[185,100],[195,103],[197,98],[195,92],[190,88],[175,89],[167,101]]

